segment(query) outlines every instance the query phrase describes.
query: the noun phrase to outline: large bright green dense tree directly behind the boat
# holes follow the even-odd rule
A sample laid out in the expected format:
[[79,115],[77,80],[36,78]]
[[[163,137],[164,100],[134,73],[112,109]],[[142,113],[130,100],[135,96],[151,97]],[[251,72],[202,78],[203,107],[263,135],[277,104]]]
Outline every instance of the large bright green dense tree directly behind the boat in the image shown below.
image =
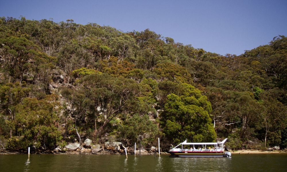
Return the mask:
[[183,95],[170,94],[161,113],[161,126],[166,138],[193,141],[215,141],[216,133],[211,124],[211,105],[199,90],[183,84]]

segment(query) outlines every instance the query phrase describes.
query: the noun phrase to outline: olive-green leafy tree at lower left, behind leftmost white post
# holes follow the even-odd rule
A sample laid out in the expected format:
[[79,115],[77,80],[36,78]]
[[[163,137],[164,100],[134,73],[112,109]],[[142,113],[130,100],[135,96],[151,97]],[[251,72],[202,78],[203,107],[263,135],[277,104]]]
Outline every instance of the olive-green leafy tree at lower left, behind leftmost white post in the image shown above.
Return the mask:
[[52,147],[62,139],[60,131],[55,126],[58,118],[55,104],[50,103],[53,98],[37,100],[25,98],[22,104],[16,107],[15,132],[23,136],[25,146],[35,145],[36,148]]

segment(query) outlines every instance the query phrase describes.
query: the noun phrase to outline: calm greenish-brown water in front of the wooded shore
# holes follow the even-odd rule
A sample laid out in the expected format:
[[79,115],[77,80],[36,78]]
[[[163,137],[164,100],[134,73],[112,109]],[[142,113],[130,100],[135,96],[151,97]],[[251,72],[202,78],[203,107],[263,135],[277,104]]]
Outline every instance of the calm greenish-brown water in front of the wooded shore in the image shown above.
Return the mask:
[[154,158],[153,155],[0,155],[0,172],[14,171],[287,171],[287,154],[233,154],[231,158]]

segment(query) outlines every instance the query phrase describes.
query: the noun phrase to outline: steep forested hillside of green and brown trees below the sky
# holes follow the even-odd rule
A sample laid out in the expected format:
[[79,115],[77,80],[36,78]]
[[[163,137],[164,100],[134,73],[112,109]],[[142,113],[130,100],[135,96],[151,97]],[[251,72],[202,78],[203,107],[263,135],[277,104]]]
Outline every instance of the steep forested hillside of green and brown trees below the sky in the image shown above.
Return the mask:
[[2,17],[0,63],[7,150],[157,137],[167,148],[225,137],[232,149],[287,147],[285,36],[222,56],[149,29]]

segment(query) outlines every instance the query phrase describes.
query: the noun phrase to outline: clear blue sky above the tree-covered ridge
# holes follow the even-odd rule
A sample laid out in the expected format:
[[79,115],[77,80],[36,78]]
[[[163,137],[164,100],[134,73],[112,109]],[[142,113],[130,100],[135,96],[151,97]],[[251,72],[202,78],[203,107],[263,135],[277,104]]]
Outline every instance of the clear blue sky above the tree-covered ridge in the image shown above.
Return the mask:
[[123,32],[146,28],[175,42],[225,55],[287,36],[287,0],[1,0],[0,16],[73,19]]

